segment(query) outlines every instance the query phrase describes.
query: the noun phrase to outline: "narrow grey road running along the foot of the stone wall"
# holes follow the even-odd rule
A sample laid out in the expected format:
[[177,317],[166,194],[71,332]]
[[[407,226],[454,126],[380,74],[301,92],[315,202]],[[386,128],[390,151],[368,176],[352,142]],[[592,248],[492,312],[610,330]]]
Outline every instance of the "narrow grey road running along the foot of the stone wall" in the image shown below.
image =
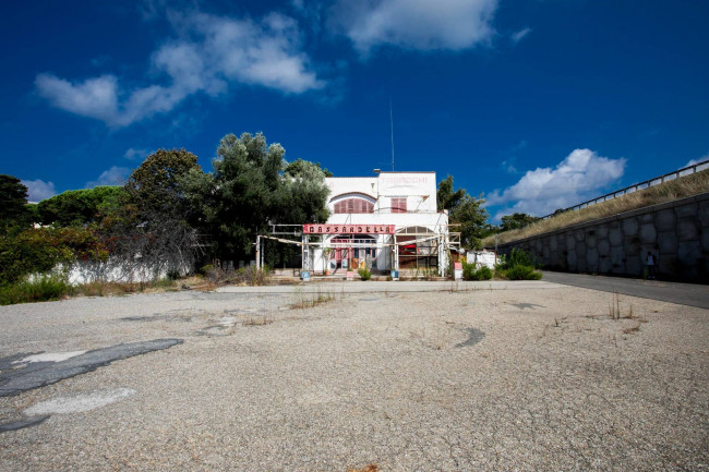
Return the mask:
[[709,286],[544,271],[546,282],[709,308]]

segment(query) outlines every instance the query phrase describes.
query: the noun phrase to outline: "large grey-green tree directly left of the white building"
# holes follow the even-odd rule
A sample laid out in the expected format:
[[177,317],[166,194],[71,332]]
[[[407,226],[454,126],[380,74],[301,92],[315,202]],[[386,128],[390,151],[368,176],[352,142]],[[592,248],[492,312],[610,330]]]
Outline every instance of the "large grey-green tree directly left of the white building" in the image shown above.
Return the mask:
[[[267,144],[263,133],[228,134],[217,148],[211,179],[190,176],[190,193],[206,207],[202,213],[216,242],[216,256],[248,259],[255,235],[268,232],[269,225],[327,219],[323,169],[302,159],[286,165],[285,153],[280,144]],[[267,251],[281,258],[286,253]]]

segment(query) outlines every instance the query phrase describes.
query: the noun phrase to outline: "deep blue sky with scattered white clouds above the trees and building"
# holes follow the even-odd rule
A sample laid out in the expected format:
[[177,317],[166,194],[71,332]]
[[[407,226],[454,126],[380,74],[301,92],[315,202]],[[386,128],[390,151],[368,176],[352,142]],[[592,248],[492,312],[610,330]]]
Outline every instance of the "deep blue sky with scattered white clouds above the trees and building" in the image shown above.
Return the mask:
[[3,2],[0,173],[38,201],[264,132],[335,176],[434,170],[493,218],[709,159],[709,2]]

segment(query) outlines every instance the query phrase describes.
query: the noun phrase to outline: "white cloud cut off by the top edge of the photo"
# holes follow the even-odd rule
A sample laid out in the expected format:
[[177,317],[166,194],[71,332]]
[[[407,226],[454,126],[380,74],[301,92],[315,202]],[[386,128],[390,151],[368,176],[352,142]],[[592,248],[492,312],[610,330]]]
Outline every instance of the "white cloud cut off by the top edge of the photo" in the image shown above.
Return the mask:
[[460,50],[488,41],[497,0],[338,0],[333,22],[360,53],[394,45]]

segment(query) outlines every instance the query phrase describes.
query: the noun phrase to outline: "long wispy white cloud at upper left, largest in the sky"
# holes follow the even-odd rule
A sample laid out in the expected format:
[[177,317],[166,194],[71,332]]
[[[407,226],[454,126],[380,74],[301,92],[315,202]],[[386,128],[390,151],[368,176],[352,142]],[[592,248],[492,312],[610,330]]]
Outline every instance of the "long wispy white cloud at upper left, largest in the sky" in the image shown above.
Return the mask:
[[300,50],[300,32],[291,17],[272,13],[261,21],[206,13],[171,13],[179,39],[171,39],[152,56],[151,64],[165,84],[127,89],[115,75],[70,82],[38,74],[37,92],[52,106],[127,126],[155,113],[172,110],[187,97],[203,92],[216,96],[229,84],[301,94],[325,86]]

